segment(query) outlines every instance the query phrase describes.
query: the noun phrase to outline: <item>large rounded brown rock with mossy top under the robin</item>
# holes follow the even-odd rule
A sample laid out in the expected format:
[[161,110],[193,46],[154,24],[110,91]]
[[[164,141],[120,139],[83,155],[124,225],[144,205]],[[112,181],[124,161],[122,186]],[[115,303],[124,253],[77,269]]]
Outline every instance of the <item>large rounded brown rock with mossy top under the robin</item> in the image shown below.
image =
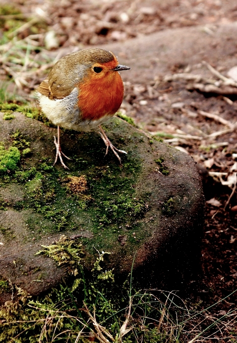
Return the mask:
[[[62,130],[64,153],[72,160],[52,167],[56,128],[14,112],[0,115],[0,141],[12,169],[0,174],[0,270],[30,294],[60,282],[67,271],[35,255],[62,235],[83,245],[84,267],[91,269],[98,251],[108,268],[146,288],[181,284],[199,260],[203,193],[194,160],[120,118],[104,125],[112,143],[126,150],[122,165],[97,132]],[[10,165],[9,164],[9,165]]]

